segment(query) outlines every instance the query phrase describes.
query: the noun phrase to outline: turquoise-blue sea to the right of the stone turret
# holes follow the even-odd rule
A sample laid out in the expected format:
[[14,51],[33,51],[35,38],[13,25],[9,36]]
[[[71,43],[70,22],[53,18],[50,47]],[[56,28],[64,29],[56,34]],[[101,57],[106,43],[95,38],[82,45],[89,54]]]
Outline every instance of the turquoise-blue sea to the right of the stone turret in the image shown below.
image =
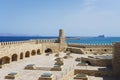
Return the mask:
[[112,44],[113,42],[120,42],[120,37],[85,37],[76,40],[67,40],[67,43],[80,44]]

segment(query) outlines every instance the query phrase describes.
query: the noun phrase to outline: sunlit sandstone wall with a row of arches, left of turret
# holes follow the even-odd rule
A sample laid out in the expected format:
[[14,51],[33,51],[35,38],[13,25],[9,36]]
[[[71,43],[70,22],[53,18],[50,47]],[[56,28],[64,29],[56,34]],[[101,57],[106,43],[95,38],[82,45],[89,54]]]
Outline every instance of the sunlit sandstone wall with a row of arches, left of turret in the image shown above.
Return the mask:
[[4,42],[5,45],[0,46],[1,64],[6,64],[40,53],[45,53],[46,49],[50,49],[52,53],[59,51],[59,43],[53,42],[36,43],[36,40],[33,40],[22,43],[15,42],[14,44],[8,44],[8,42],[6,43]]

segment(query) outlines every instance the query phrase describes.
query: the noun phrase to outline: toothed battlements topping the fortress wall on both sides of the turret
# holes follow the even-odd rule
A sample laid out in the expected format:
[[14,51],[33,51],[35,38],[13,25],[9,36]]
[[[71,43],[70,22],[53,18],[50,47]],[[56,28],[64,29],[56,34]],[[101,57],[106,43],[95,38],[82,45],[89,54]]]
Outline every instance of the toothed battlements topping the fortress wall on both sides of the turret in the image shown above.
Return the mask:
[[[24,43],[58,43],[58,39],[31,39],[26,41],[9,41],[9,42],[0,42],[0,46],[14,45],[14,44],[24,44]],[[68,43],[68,46],[71,47],[112,47],[112,44],[76,44]]]

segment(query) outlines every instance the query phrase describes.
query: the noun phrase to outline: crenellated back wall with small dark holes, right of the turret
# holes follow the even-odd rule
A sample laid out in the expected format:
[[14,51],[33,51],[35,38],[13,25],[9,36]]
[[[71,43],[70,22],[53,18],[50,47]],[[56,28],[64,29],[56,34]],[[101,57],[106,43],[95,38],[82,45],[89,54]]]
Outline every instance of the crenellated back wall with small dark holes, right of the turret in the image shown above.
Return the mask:
[[68,44],[68,50],[81,54],[105,54],[112,53],[112,45],[108,44]]

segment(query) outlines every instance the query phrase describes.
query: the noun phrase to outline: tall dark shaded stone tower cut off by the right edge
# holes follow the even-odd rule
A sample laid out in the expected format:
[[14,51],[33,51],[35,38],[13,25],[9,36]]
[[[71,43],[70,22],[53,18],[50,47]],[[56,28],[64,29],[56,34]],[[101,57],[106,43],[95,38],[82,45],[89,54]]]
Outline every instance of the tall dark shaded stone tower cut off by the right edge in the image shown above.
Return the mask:
[[120,42],[113,43],[113,74],[120,77]]

